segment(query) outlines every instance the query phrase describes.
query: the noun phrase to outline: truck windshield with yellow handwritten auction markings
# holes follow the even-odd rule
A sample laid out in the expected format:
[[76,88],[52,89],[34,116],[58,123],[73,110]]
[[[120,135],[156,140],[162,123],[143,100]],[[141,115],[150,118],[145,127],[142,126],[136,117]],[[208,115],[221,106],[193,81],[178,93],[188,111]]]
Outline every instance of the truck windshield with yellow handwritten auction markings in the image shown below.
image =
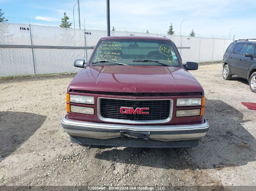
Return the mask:
[[[108,60],[112,62],[99,62]],[[145,60],[147,60],[145,62]],[[157,61],[157,62],[154,62]],[[182,67],[177,53],[168,40],[111,39],[101,40],[92,56],[90,65],[170,65]],[[159,62],[159,63],[158,63]]]

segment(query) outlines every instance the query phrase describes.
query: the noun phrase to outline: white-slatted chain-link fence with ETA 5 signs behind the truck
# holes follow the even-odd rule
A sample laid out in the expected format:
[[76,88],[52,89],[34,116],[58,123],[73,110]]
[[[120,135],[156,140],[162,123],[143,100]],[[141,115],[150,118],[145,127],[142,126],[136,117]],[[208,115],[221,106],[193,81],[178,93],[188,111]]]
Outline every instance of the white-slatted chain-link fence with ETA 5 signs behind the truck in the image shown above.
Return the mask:
[[[93,47],[106,30],[60,28],[43,25],[0,23],[0,77],[79,72],[75,59],[88,61]],[[231,39],[176,36],[158,33],[111,31],[111,36],[154,36],[170,38],[182,62],[222,60]]]

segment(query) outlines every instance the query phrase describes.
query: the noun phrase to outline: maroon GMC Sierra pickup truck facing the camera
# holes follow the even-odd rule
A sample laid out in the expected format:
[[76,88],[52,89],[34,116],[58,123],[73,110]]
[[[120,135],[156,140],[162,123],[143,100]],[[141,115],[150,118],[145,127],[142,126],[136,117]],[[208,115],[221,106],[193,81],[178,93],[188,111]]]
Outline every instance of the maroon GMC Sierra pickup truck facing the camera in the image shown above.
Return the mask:
[[71,142],[141,148],[194,147],[209,129],[204,90],[161,37],[104,37],[70,82],[62,127]]

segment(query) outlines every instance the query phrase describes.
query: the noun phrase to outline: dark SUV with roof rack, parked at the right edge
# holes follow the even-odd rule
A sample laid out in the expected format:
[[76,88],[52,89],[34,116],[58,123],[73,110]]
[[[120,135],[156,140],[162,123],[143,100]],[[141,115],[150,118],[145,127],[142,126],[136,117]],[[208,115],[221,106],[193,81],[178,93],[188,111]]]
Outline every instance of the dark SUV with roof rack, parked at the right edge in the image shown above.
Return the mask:
[[230,80],[232,75],[245,78],[252,92],[256,92],[256,39],[240,39],[232,42],[223,56],[222,76]]

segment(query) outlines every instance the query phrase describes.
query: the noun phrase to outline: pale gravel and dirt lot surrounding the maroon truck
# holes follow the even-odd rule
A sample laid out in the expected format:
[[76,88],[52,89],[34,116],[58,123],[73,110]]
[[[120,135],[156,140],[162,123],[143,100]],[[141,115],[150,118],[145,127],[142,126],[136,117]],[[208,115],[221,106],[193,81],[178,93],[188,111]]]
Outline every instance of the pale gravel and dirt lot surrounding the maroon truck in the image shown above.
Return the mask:
[[178,149],[71,145],[61,119],[75,74],[0,80],[0,185],[256,186],[256,116],[241,104],[256,94],[221,71],[218,62],[191,72],[210,130],[198,147]]

